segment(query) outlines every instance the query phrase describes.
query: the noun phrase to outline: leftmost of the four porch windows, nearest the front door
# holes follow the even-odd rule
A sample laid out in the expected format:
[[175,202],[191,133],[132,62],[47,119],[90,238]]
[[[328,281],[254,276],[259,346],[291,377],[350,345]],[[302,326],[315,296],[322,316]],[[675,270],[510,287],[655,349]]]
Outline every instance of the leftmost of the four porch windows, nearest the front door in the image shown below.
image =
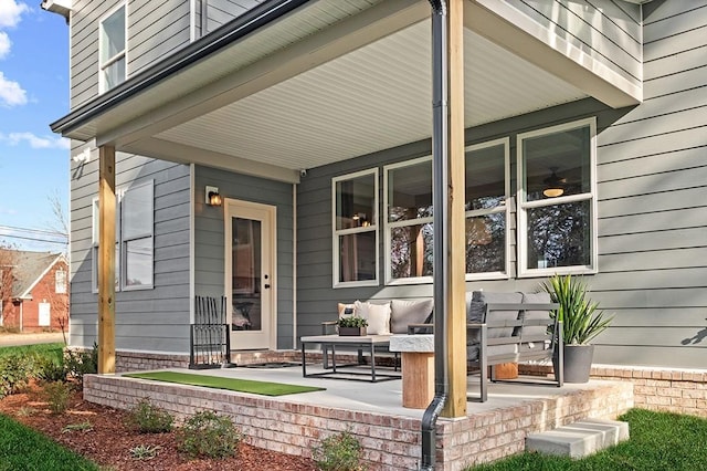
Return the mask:
[[331,180],[334,286],[378,285],[378,169]]

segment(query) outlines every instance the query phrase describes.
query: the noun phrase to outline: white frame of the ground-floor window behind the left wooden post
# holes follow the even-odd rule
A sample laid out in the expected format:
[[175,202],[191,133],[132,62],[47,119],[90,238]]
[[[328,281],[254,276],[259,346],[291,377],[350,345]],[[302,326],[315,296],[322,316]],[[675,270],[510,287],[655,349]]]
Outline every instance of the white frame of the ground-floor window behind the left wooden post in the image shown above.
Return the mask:
[[[151,188],[151,214],[152,214],[152,221],[150,223],[150,232],[149,234],[143,233],[139,236],[134,236],[131,238],[126,238],[124,239],[123,237],[123,208],[124,208],[124,198],[125,195],[128,191],[133,191],[135,189],[138,189],[140,187],[145,187],[145,186],[150,186]],[[139,291],[139,290],[152,290],[155,287],[155,180],[150,179],[150,180],[146,180],[146,181],[141,181],[139,184],[136,184],[134,186],[131,186],[130,188],[118,188],[115,190],[115,198],[116,198],[116,205],[115,205],[115,211],[116,211],[116,223],[115,223],[115,238],[116,238],[116,284],[115,284],[115,291]],[[91,254],[92,254],[92,286],[93,286],[93,292],[97,293],[98,292],[98,211],[95,209],[97,207],[97,202],[98,202],[98,198],[94,198],[91,201],[91,208],[92,208],[92,212],[93,212],[93,217],[92,217],[92,245],[91,245]],[[149,284],[136,284],[136,285],[128,285],[126,283],[126,273],[127,273],[127,255],[126,255],[126,243],[134,241],[134,240],[139,240],[139,239],[145,239],[145,238],[151,238],[152,239],[152,250],[151,250],[151,259],[152,259],[152,278],[150,280]]]

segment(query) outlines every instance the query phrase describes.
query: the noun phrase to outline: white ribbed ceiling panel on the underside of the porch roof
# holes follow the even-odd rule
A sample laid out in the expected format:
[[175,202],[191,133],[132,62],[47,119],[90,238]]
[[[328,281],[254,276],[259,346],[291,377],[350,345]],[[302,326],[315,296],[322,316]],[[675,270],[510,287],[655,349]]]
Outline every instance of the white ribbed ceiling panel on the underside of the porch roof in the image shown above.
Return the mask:
[[[289,169],[429,138],[430,31],[422,21],[157,137]],[[465,127],[587,96],[468,29],[464,43]]]

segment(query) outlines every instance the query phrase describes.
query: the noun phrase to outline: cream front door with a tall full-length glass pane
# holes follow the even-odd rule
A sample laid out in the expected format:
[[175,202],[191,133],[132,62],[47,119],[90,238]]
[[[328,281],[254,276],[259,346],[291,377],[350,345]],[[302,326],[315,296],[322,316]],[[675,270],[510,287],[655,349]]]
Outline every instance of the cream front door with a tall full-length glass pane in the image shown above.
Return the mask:
[[231,349],[274,349],[275,207],[226,199],[224,220]]

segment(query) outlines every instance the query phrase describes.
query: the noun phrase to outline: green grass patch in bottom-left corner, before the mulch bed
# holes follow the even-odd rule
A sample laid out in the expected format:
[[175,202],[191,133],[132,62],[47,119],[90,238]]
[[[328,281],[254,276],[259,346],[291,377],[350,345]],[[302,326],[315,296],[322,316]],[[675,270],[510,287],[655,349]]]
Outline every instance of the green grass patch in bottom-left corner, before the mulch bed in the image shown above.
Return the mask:
[[0,471],[81,471],[98,465],[0,414]]

